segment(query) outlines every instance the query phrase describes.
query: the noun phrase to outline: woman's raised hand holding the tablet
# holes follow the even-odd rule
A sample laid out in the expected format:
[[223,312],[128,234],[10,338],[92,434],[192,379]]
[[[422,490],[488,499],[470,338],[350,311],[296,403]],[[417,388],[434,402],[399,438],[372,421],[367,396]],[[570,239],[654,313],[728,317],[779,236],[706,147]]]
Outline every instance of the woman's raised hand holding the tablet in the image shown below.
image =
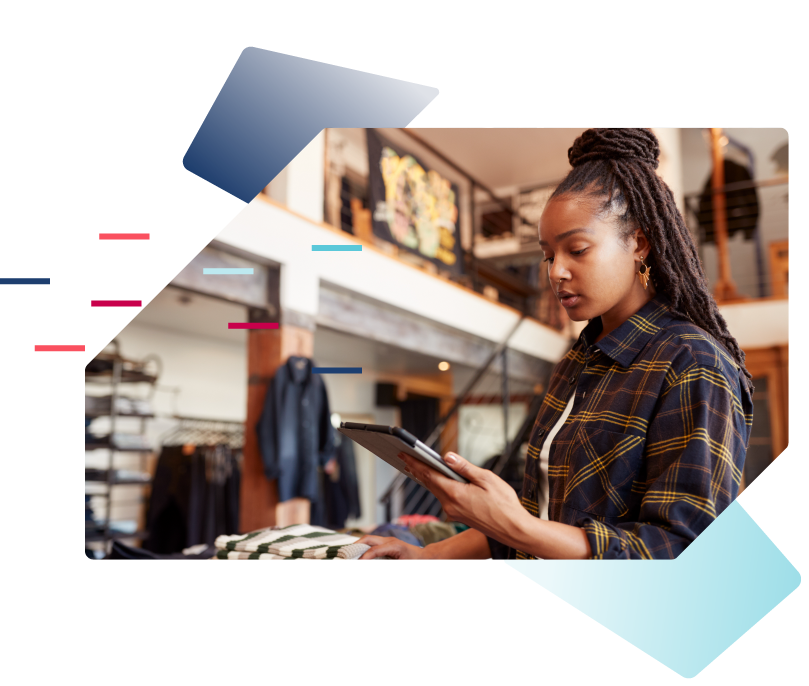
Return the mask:
[[476,467],[460,455],[447,453],[444,461],[450,469],[466,478],[468,484],[450,479],[405,453],[399,453],[399,459],[407,464],[407,472],[438,498],[451,521],[461,522],[509,544],[515,531],[522,528],[526,516],[531,519],[511,486],[493,472]]

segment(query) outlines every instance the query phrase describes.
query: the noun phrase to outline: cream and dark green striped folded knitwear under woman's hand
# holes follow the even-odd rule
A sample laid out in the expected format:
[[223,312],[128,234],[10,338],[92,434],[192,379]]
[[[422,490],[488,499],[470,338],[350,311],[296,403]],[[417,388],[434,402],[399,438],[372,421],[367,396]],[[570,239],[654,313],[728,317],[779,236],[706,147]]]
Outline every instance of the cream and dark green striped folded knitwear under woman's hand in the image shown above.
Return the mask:
[[311,524],[219,536],[217,560],[357,560],[370,548],[359,538]]

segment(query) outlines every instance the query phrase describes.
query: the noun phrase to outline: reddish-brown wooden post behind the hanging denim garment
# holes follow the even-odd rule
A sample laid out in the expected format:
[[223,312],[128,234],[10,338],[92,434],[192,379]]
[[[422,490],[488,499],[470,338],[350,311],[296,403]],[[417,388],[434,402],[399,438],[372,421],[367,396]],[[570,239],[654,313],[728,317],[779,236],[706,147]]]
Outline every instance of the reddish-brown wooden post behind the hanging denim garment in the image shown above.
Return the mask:
[[304,498],[278,502],[278,487],[264,475],[256,424],[264,409],[267,388],[276,370],[292,356],[312,357],[314,335],[307,329],[281,326],[247,332],[247,421],[242,461],[239,526],[242,533],[268,526],[309,522]]

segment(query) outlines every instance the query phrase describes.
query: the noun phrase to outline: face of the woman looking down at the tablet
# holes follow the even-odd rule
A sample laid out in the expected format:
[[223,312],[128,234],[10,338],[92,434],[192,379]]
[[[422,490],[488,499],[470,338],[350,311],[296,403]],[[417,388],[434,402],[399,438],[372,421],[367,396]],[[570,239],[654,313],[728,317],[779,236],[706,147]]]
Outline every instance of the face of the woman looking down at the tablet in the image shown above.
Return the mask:
[[551,200],[539,221],[539,244],[554,292],[573,296],[557,296],[573,321],[602,316],[606,331],[654,296],[652,283],[644,290],[637,277],[640,256],[649,254],[643,232],[625,245],[615,220],[597,217],[590,202],[575,196]]

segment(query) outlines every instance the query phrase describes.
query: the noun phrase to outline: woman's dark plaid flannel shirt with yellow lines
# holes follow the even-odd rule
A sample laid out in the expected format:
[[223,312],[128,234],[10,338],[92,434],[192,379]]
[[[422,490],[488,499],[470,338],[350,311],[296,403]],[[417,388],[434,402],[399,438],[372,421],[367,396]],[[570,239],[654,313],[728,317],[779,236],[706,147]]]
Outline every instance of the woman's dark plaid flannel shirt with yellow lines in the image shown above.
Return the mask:
[[554,369],[531,432],[521,501],[539,516],[542,444],[575,393],[551,444],[548,517],[583,528],[591,559],[674,559],[739,490],[747,378],[670,306],[659,293],[598,343],[601,318],[591,320]]

